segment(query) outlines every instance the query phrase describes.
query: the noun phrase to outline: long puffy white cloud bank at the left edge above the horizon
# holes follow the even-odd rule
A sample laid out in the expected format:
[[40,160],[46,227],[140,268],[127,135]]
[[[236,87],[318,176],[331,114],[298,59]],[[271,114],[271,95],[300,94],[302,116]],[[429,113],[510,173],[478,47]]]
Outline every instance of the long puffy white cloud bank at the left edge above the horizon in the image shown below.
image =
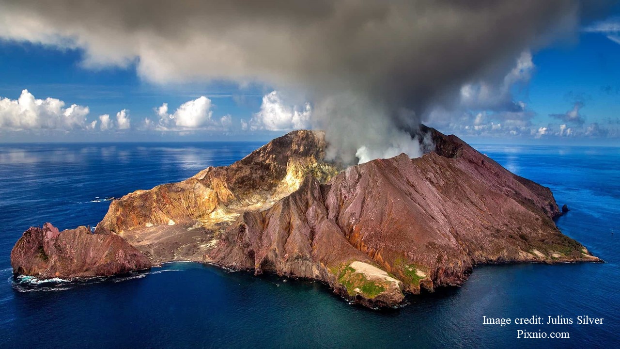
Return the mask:
[[27,89],[18,99],[0,99],[0,129],[88,129],[88,114],[88,107],[71,104],[65,108],[60,99],[36,99]]

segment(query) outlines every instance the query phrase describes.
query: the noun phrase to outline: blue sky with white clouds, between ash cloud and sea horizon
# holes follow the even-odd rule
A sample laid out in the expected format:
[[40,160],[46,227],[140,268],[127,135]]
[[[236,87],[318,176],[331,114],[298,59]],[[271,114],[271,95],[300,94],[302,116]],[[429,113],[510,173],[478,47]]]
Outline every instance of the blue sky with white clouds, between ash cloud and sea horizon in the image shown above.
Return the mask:
[[[569,40],[516,57],[525,68],[506,91],[494,93],[506,94],[518,112],[485,109],[477,96],[474,107],[430,113],[423,121],[474,143],[620,145],[619,18],[608,14]],[[156,73],[144,73],[140,57],[93,64],[89,43],[20,35],[0,35],[0,142],[268,140],[313,125],[312,101],[286,99],[286,91],[267,83],[192,79],[191,71],[189,79],[162,83]],[[32,101],[54,99],[43,106],[64,104],[39,108],[30,116],[36,120],[20,122],[24,90]],[[73,104],[77,109],[69,111]],[[67,113],[70,121],[63,119]]]

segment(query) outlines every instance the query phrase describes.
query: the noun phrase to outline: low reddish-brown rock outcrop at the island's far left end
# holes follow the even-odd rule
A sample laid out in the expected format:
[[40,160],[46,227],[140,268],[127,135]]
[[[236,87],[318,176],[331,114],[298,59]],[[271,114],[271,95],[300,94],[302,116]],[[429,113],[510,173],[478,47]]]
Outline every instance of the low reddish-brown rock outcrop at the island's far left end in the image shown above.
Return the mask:
[[151,267],[151,261],[117,235],[91,234],[87,227],[59,232],[50,223],[32,227],[11,251],[15,274],[38,278],[88,278]]

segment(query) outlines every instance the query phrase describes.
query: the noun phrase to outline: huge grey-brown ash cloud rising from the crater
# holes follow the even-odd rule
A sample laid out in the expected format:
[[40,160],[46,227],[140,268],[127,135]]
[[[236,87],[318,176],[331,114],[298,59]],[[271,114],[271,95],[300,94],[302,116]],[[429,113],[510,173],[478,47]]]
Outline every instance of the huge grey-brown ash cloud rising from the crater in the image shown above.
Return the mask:
[[154,83],[295,91],[291,104],[312,102],[332,157],[353,163],[419,156],[420,121],[458,107],[466,84],[500,86],[487,102],[506,104],[515,59],[597,11],[567,0],[9,0],[0,37],[81,48],[86,67],[135,64]]

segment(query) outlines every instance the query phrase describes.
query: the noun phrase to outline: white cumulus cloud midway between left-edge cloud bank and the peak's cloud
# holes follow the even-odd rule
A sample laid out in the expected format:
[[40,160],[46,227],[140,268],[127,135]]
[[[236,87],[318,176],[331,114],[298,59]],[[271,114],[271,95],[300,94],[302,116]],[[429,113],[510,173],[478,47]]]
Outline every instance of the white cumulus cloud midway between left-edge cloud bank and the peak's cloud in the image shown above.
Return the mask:
[[200,96],[192,101],[181,104],[174,113],[168,111],[168,104],[164,103],[155,108],[159,121],[155,124],[151,119],[144,120],[147,128],[162,131],[187,131],[187,130],[228,130],[232,125],[232,117],[229,115],[219,120],[213,119],[211,111],[211,99]]

